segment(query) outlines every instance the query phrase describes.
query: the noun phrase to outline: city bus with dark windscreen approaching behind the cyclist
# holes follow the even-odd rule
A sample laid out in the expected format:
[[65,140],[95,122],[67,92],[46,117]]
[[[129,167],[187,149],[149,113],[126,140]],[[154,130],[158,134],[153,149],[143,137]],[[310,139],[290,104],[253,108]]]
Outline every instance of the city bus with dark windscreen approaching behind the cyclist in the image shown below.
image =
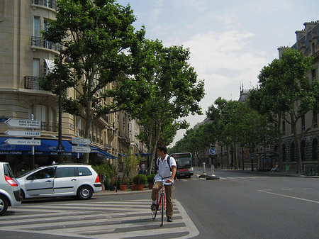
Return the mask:
[[176,152],[170,155],[177,163],[177,177],[191,177],[194,175],[193,157],[190,152]]

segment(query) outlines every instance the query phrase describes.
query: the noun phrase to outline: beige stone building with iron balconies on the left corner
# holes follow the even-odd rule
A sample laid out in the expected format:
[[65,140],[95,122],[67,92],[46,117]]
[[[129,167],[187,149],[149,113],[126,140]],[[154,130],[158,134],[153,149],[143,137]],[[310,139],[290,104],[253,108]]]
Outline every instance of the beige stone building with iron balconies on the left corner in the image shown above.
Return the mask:
[[[55,0],[0,0],[0,161],[10,162],[16,171],[47,165],[57,161],[58,97],[39,86],[43,77],[54,66],[55,57],[60,55],[57,45],[43,39],[41,31],[57,13]],[[106,88],[110,89],[112,84]],[[73,89],[67,94],[75,96]],[[109,104],[106,99],[103,104]],[[35,146],[33,155],[28,145],[8,145],[7,130],[11,128],[4,121],[8,118],[33,119],[40,121],[41,145]],[[62,112],[62,152],[65,162],[77,162],[77,153],[72,152],[71,140],[84,136],[85,122],[69,113]],[[27,130],[31,130],[30,128]],[[90,140],[92,162],[117,159],[119,154],[145,152],[135,135],[140,127],[128,113],[118,112],[102,116],[91,126]],[[79,135],[79,136],[77,136]]]

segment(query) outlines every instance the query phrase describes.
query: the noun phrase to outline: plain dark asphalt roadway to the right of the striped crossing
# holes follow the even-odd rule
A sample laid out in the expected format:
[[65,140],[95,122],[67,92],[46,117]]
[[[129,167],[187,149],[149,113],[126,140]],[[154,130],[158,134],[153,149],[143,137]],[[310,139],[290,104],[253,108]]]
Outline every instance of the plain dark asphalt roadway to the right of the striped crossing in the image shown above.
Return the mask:
[[174,198],[198,228],[196,238],[319,238],[318,178],[215,174],[220,179],[176,184]]

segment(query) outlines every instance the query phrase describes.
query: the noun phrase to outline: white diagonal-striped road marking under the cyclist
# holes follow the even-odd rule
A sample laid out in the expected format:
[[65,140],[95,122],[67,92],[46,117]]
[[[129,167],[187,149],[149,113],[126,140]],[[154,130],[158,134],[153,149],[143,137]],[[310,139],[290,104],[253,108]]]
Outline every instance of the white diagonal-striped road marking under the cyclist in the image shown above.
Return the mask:
[[[75,238],[140,238],[172,235],[192,238],[199,234],[184,207],[174,203],[173,223],[160,227],[160,216],[150,216],[150,200],[98,201],[71,204],[23,204],[12,209],[16,215],[0,221],[1,230],[42,233]],[[12,224],[14,220],[15,223]]]

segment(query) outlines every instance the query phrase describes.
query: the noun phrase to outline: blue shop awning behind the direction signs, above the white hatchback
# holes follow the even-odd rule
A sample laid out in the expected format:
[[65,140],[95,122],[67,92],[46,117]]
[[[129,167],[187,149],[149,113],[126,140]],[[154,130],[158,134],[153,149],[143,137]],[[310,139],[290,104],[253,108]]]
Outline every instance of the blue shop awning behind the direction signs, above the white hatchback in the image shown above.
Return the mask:
[[[5,140],[7,137],[0,137],[0,155],[31,155],[32,146],[30,145],[8,145]],[[58,155],[57,140],[40,139],[41,145],[35,145],[35,155]],[[65,147],[65,152],[62,155],[77,156],[77,153],[72,152],[72,144],[67,140],[62,140],[62,145]]]

